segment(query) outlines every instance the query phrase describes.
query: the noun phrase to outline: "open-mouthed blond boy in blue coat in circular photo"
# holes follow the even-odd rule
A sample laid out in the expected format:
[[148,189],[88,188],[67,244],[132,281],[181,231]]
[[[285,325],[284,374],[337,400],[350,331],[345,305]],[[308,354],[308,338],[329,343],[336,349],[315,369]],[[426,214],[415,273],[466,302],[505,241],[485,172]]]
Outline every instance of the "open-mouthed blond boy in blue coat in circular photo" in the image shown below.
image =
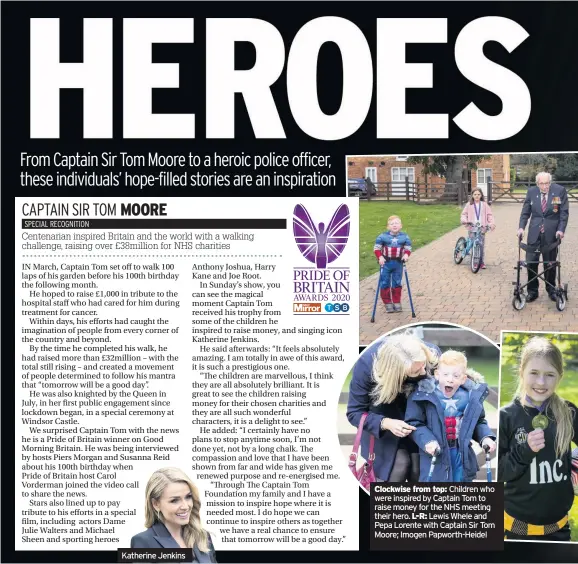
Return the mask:
[[[434,378],[418,383],[407,401],[405,422],[416,430],[410,435],[420,448],[420,482],[427,480],[431,457],[437,452],[432,482],[471,482],[478,471],[472,439],[496,450],[484,411],[488,385],[468,369],[466,356],[448,350],[439,359]],[[443,418],[441,416],[443,414]]]

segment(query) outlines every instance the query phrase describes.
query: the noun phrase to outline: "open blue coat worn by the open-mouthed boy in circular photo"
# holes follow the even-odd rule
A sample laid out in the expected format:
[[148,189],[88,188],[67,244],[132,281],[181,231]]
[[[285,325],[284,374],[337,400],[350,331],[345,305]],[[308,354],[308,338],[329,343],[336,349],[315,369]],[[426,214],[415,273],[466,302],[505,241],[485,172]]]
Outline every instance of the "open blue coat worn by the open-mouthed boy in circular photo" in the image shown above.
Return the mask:
[[[449,445],[445,431],[444,410],[441,401],[435,394],[436,381],[433,378],[422,380],[417,390],[411,394],[407,401],[406,421],[417,427],[410,435],[420,448],[419,453],[419,480],[427,481],[431,466],[431,456],[424,448],[430,441],[437,441],[441,446],[441,459],[434,466],[432,482],[453,482],[452,464],[450,460]],[[462,455],[464,467],[463,481],[471,482],[479,470],[476,454],[471,445],[471,440],[481,442],[490,437],[494,441],[496,435],[492,433],[484,411],[484,400],[488,396],[487,384],[476,383],[466,380],[463,388],[469,392],[468,407],[460,426],[459,449]]]

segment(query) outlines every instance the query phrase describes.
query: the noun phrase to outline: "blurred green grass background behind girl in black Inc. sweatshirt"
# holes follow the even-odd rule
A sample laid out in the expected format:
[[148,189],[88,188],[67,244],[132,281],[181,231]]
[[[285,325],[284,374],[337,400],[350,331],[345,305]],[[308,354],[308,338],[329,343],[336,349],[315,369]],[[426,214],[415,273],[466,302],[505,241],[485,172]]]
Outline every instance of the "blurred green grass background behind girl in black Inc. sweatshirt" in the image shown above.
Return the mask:
[[[549,337],[549,335],[544,335]],[[512,400],[514,390],[516,389],[517,382],[517,362],[516,354],[519,353],[522,343],[526,340],[527,336],[522,336],[522,334],[510,334],[506,333],[504,335],[503,347],[504,347],[504,358],[502,363],[502,385],[500,389],[500,404],[503,406]],[[560,346],[561,350],[565,355],[566,361],[573,356],[573,346],[576,345],[575,336],[557,336],[553,337],[556,340],[556,344]],[[578,405],[578,371],[568,370],[564,372],[564,379],[558,386],[557,393],[571,401],[574,405]],[[578,446],[578,445],[576,445]],[[572,530],[572,540],[578,542],[578,497],[574,498],[574,505],[570,510],[570,528]]]

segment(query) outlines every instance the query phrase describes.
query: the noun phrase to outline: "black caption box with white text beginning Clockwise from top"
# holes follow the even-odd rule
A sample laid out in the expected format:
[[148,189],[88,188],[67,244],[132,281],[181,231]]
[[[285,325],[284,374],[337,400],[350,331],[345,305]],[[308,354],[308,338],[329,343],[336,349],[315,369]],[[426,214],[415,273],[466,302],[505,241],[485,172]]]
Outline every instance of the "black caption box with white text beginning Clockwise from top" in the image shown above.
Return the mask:
[[504,485],[371,484],[371,550],[503,550]]

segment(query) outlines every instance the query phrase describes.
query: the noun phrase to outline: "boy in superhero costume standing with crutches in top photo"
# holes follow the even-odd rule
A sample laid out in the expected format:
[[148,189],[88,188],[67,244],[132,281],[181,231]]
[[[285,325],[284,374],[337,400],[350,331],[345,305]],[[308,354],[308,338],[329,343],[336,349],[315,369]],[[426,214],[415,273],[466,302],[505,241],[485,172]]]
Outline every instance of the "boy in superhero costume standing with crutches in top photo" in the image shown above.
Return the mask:
[[402,227],[397,215],[390,216],[387,231],[377,236],[373,247],[381,268],[379,289],[387,313],[401,311],[403,263],[411,254],[411,239],[401,230]]

